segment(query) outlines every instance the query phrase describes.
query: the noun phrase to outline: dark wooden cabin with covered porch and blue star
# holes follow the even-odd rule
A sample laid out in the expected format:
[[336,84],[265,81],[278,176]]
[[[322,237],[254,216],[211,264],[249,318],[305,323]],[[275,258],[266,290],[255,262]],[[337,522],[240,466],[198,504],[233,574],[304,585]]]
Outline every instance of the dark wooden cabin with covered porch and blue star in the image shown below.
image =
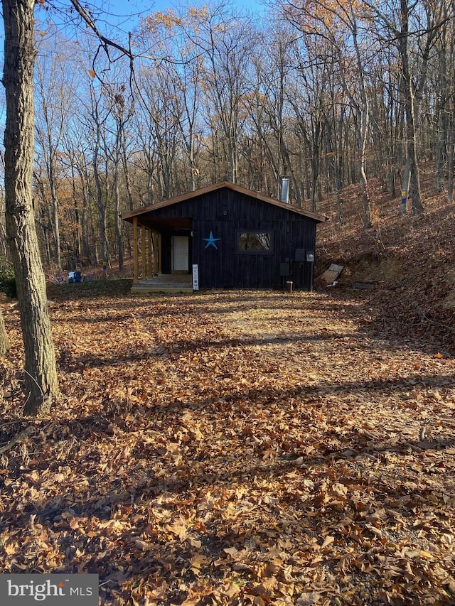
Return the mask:
[[284,288],[292,281],[307,291],[316,225],[326,220],[228,182],[122,218],[134,225],[135,284],[153,283],[156,274],[188,274],[191,288]]

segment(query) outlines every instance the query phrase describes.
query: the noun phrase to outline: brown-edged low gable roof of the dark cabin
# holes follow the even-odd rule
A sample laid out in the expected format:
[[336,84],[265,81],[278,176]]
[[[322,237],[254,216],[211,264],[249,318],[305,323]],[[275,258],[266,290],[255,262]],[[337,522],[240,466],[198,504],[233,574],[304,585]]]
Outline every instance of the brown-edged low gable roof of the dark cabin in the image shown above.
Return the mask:
[[202,188],[199,190],[195,190],[193,192],[189,192],[183,195],[178,195],[176,198],[169,198],[168,200],[163,200],[162,202],[157,202],[156,204],[152,204],[150,206],[142,207],[137,210],[130,210],[129,212],[122,213],[122,219],[124,221],[128,221],[132,223],[133,217],[140,217],[140,215],[146,215],[149,212],[153,212],[154,210],[159,210],[160,208],[164,208],[166,206],[172,206],[173,204],[177,204],[178,202],[184,202],[185,200],[191,200],[191,198],[197,198],[199,195],[204,195],[206,193],[213,192],[215,190],[219,190],[222,188],[228,188],[237,193],[241,193],[249,196],[250,198],[256,198],[257,200],[262,200],[262,202],[267,202],[268,204],[273,204],[274,206],[278,206],[280,208],[284,208],[285,210],[289,210],[290,212],[295,212],[296,215],[301,215],[302,217],[308,217],[309,219],[313,219],[318,223],[323,223],[327,220],[327,217],[323,215],[319,215],[317,212],[311,212],[309,210],[304,210],[303,208],[293,206],[291,204],[287,204],[287,202],[281,202],[280,200],[275,200],[275,198],[269,198],[269,196],[264,195],[262,193],[248,190],[247,188],[242,188],[240,185],[235,185],[235,183],[230,183],[230,181],[222,181],[221,183],[216,183],[215,185],[209,185],[206,188]]

